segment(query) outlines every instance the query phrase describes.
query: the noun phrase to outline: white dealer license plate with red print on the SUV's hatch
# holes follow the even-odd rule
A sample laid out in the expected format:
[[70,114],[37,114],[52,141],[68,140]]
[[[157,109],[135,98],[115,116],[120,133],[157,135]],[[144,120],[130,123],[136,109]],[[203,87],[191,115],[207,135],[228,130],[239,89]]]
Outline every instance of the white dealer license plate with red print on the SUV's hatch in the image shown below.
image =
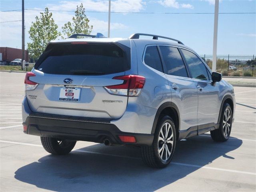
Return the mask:
[[60,88],[60,99],[62,101],[79,101],[81,88]]

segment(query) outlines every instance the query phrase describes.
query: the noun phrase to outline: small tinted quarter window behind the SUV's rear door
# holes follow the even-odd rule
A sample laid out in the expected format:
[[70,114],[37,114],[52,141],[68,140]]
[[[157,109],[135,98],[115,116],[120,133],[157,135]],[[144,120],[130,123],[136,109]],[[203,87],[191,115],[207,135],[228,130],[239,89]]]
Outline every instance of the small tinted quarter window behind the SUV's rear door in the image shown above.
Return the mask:
[[148,46],[146,48],[144,62],[146,65],[163,72],[160,56],[156,46]]

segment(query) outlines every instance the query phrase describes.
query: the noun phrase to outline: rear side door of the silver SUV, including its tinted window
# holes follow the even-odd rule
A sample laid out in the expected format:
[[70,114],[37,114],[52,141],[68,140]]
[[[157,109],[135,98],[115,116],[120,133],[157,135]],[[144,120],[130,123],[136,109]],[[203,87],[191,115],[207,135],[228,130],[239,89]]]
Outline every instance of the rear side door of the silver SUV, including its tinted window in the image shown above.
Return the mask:
[[[180,113],[180,135],[182,137],[196,135],[198,93],[194,80],[189,78],[178,48],[161,45],[159,48],[172,92],[172,102],[176,104]],[[190,135],[184,135],[182,132]]]

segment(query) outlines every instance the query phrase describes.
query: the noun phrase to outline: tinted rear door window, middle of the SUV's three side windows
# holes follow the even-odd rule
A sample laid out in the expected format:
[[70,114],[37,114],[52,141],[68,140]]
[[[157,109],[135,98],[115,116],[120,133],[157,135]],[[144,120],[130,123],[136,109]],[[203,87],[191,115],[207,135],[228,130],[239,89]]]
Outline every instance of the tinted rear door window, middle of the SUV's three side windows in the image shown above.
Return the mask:
[[164,59],[166,74],[180,77],[188,77],[184,62],[180,56],[178,48],[169,46],[160,46]]

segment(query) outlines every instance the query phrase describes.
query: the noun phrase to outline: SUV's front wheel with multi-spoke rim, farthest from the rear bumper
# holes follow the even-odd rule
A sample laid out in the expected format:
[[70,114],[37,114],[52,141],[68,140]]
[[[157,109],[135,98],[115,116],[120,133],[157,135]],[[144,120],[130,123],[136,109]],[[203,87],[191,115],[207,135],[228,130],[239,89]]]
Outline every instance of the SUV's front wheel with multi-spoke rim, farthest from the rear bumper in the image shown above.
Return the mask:
[[211,137],[214,141],[227,141],[232,128],[232,109],[228,103],[224,103],[220,116],[220,125],[216,130],[211,131]]

